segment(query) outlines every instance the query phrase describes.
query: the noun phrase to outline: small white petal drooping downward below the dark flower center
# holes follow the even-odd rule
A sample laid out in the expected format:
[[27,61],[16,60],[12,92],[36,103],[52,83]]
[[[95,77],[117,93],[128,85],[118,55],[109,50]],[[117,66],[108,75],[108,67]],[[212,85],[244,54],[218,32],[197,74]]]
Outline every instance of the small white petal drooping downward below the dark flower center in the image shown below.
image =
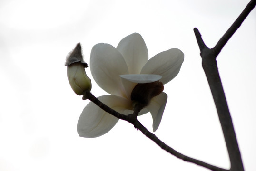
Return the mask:
[[153,97],[150,101],[150,104],[146,107],[153,118],[153,132],[158,129],[158,126],[162,120],[166,102],[167,94],[162,92],[161,94]]

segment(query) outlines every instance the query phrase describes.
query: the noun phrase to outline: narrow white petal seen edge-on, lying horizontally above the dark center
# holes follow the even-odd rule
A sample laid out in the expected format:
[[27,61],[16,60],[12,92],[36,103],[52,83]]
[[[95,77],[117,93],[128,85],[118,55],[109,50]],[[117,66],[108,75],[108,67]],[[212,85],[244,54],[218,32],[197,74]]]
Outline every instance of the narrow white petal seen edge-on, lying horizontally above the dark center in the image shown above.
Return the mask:
[[126,74],[120,75],[120,77],[133,83],[152,83],[162,78],[162,76],[156,74]]

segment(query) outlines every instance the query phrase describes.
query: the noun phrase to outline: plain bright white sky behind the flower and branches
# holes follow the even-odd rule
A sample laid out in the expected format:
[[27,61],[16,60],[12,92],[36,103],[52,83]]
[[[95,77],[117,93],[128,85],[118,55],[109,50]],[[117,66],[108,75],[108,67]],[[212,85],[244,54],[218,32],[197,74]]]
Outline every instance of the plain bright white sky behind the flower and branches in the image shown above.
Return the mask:
[[[185,54],[155,134],[188,156],[229,168],[217,112],[194,36],[214,47],[249,0],[1,0],[0,171],[207,171],[177,159],[119,121],[107,134],[80,138],[88,104],[68,83],[65,57],[81,42],[116,47],[138,32],[149,58]],[[256,170],[256,9],[217,57],[246,171]],[[88,76],[92,79],[89,69]],[[92,80],[92,93],[106,95]],[[150,114],[138,118],[150,131]]]

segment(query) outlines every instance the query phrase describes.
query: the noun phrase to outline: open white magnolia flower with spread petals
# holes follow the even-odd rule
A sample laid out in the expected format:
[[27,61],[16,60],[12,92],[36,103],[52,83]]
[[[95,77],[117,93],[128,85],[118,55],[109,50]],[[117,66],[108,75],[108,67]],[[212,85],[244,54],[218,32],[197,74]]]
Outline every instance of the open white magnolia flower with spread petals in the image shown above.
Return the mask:
[[[142,84],[142,88],[133,92],[133,96],[138,96],[137,93],[146,85],[144,83],[158,81],[166,84],[177,76],[183,60],[184,54],[177,48],[161,52],[148,60],[148,49],[138,33],[123,38],[117,48],[99,43],[91,51],[91,74],[110,95],[98,99],[121,114],[132,114],[134,104],[138,103],[131,100],[134,87]],[[154,132],[161,122],[166,102],[167,94],[160,90],[156,96],[148,99],[148,104],[139,113],[151,113]],[[79,136],[94,138],[107,133],[117,122],[118,118],[90,102],[79,117],[77,130]]]

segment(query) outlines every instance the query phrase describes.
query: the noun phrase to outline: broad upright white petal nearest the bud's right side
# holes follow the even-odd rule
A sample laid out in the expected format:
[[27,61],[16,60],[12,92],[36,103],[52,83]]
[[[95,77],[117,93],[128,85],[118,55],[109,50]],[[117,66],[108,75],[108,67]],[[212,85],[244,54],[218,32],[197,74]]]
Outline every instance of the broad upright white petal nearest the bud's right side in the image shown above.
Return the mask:
[[119,75],[128,74],[128,67],[115,47],[99,43],[91,50],[91,74],[96,83],[112,95],[125,94]]

